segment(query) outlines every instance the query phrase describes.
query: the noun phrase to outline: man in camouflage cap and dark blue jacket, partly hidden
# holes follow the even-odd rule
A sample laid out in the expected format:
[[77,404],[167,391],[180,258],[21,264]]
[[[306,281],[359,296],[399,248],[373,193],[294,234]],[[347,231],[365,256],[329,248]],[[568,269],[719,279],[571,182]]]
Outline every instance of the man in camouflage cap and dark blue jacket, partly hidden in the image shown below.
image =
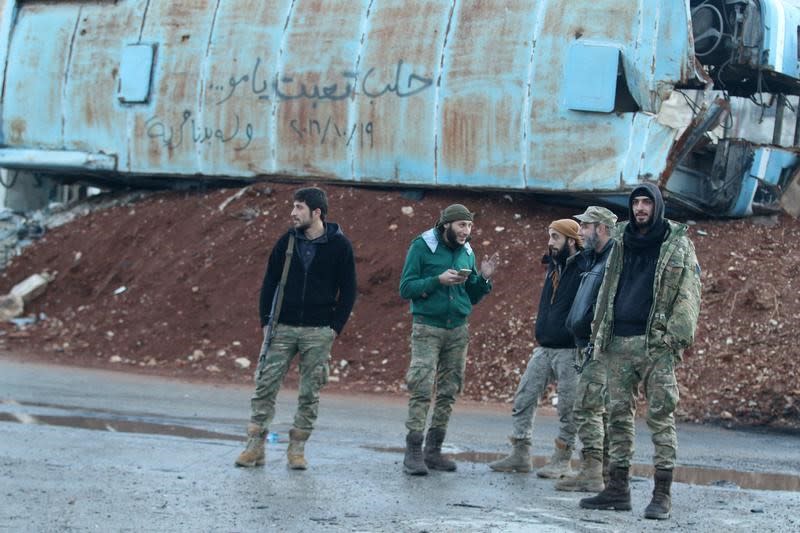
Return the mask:
[[603,282],[606,260],[614,246],[612,234],[617,215],[605,207],[592,205],[585,213],[575,215],[575,218],[581,221],[583,254],[588,266],[581,276],[581,284],[567,316],[567,330],[575,336],[575,344],[581,354],[578,364],[582,365],[582,371],[572,418],[583,450],[578,474],[556,483],[556,490],[600,492],[605,487],[603,480],[608,465],[606,373],[600,361],[587,361],[583,354],[592,333],[594,307]]

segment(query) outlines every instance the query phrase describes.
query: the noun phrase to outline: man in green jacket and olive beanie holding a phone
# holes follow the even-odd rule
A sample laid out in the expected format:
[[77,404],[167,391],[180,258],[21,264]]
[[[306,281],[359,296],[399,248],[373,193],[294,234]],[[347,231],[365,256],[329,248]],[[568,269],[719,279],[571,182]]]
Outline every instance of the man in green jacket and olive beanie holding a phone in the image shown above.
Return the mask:
[[[403,471],[425,475],[428,468],[453,471],[442,456],[442,442],[453,404],[464,384],[472,306],[492,289],[489,281],[500,261],[484,257],[480,271],[469,245],[473,213],[461,204],[442,211],[436,227],[416,237],[408,249],[400,296],[411,300],[411,363],[406,374],[408,419]],[[436,404],[423,456],[422,441],[431,399]]]

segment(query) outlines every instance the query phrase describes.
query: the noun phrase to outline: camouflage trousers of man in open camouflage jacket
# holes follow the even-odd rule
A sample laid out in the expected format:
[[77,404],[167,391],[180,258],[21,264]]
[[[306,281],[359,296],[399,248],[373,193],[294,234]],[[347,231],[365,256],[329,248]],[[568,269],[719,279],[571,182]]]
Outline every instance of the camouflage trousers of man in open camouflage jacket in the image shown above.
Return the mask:
[[678,382],[675,379],[675,356],[661,347],[645,351],[644,335],[613,337],[599,357],[605,363],[608,377],[609,456],[612,464],[629,467],[634,450],[634,415],[639,384],[644,385],[647,399],[647,427],[653,447],[656,468],[671,470],[675,466],[678,436],[673,415],[678,404]]

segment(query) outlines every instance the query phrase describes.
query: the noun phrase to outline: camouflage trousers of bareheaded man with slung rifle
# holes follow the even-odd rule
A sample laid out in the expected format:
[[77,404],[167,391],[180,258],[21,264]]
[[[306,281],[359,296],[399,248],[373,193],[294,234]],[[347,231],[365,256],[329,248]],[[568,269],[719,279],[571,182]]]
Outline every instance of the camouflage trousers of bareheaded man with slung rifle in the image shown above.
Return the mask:
[[[250,399],[250,422],[267,430],[275,416],[275,398],[295,355],[300,356],[300,387],[294,427],[314,428],[319,413],[319,392],[328,382],[331,346],[336,334],[327,327],[278,324],[262,371],[256,369],[256,391]],[[262,345],[263,350],[263,345]]]

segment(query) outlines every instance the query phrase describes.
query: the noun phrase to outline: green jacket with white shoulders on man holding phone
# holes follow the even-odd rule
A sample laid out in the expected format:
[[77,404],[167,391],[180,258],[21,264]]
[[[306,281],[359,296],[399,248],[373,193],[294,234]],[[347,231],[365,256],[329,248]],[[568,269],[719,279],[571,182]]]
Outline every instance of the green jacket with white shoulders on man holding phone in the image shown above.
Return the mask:
[[[472,274],[461,285],[444,286],[439,283],[439,274],[448,268],[468,268]],[[411,241],[400,276],[400,296],[411,300],[414,322],[446,329],[462,326],[472,306],[491,290],[491,282],[475,268],[469,243],[451,249],[441,242],[435,228]]]

